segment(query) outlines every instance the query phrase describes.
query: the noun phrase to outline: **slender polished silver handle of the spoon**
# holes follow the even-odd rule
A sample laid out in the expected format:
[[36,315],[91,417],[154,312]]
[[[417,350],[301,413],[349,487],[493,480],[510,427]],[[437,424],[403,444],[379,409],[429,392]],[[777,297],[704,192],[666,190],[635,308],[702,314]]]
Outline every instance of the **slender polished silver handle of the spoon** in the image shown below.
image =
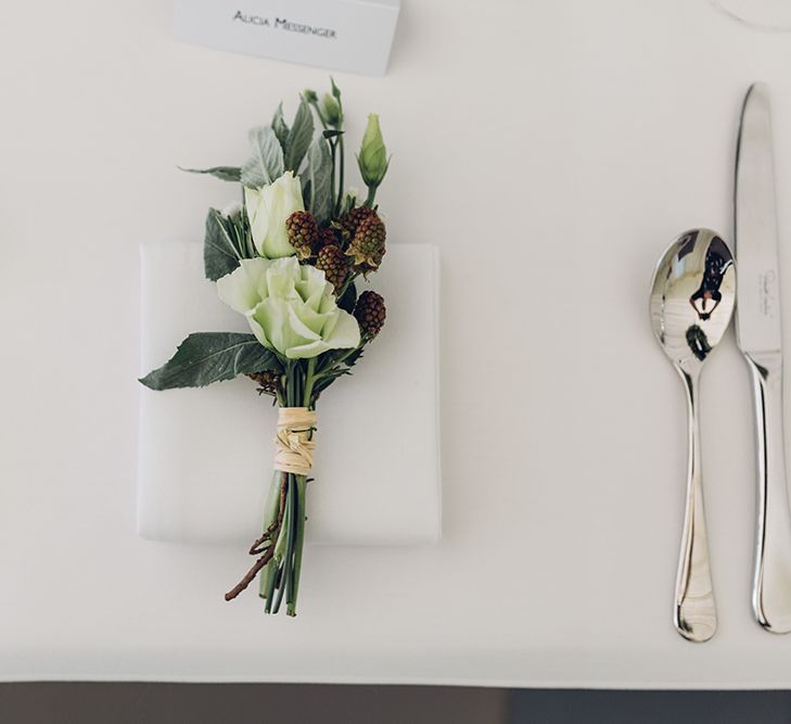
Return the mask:
[[687,506],[681,533],[681,555],[676,580],[674,623],[681,636],[691,642],[707,642],[717,630],[709,543],[703,513],[700,425],[698,422],[698,374],[681,371],[687,390],[689,417],[689,465]]

